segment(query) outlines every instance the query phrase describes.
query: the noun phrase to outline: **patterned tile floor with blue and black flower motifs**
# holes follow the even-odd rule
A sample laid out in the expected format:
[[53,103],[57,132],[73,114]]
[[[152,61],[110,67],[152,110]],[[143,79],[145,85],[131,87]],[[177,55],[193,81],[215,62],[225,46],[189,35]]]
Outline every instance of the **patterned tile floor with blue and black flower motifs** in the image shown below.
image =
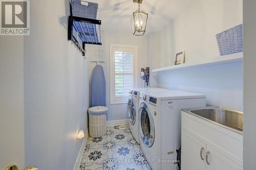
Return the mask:
[[108,127],[102,137],[90,137],[79,170],[151,169],[129,128]]

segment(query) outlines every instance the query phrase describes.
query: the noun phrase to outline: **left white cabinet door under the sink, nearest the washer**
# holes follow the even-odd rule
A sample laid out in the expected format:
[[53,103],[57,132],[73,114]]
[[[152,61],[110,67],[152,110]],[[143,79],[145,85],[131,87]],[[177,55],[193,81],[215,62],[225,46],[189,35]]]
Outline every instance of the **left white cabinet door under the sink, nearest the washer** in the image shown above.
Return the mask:
[[205,151],[206,151],[205,143],[203,143],[196,137],[190,135],[186,131],[181,130],[181,169],[182,170],[191,170],[191,169],[205,170],[206,169]]

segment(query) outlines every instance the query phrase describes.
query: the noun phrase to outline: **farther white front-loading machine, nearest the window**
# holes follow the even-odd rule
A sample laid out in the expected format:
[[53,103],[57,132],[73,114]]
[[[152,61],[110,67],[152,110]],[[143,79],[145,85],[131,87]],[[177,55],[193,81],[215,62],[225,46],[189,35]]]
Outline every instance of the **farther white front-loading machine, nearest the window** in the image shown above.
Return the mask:
[[138,123],[138,113],[139,113],[139,96],[141,91],[156,90],[160,88],[133,88],[129,90],[129,100],[128,100],[128,118],[131,132],[135,140],[140,143],[139,140],[139,123]]

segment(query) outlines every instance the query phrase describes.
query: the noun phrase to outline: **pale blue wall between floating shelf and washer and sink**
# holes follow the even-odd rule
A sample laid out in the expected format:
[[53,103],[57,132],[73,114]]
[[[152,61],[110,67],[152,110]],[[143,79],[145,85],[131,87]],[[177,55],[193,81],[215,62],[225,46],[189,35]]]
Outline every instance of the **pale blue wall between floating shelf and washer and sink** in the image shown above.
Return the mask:
[[208,105],[243,111],[243,62],[178,69],[152,77],[159,87],[202,93]]

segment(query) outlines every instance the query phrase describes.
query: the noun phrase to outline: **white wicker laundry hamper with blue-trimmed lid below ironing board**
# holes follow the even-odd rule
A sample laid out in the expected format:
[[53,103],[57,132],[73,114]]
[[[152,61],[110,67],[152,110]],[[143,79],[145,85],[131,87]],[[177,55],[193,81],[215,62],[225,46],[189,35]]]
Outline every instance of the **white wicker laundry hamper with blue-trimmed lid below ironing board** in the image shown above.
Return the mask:
[[106,133],[106,113],[108,107],[95,106],[88,109],[89,113],[89,135],[100,137]]

